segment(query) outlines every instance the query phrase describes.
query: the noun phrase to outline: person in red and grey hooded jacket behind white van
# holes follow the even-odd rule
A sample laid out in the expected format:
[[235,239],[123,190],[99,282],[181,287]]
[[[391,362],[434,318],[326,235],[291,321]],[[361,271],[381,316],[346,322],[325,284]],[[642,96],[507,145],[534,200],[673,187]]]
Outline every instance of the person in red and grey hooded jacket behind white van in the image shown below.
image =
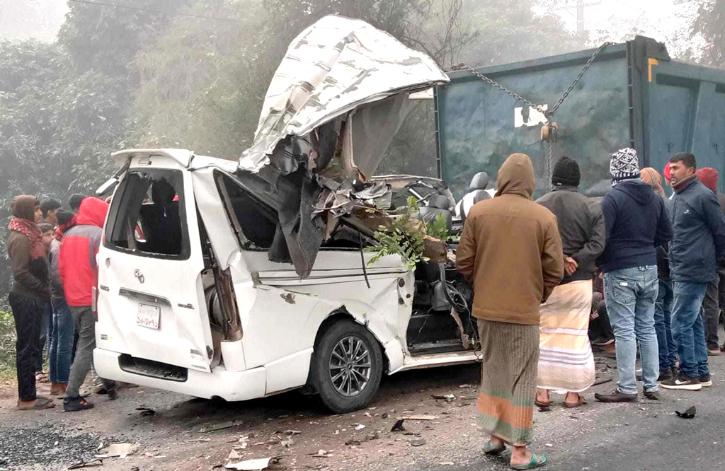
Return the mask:
[[[60,244],[58,271],[65,293],[65,301],[75,320],[78,331],[78,347],[70,367],[70,378],[65,391],[63,410],[75,412],[91,409],[93,404],[80,397],[80,385],[86,379],[93,364],[96,348],[96,320],[91,308],[93,288],[98,282],[98,254],[103,236],[103,224],[108,213],[108,203],[93,197],[80,203],[75,227],[68,230]],[[116,399],[116,383],[102,380],[109,399]]]

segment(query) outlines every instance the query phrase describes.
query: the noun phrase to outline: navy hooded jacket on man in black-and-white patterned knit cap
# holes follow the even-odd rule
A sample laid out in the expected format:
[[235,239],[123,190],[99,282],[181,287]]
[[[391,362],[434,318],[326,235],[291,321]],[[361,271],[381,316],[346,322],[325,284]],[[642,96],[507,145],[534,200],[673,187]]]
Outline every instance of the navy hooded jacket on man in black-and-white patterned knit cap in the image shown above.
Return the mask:
[[656,247],[672,238],[663,199],[642,180],[623,180],[602,199],[606,243],[602,272],[657,264]]

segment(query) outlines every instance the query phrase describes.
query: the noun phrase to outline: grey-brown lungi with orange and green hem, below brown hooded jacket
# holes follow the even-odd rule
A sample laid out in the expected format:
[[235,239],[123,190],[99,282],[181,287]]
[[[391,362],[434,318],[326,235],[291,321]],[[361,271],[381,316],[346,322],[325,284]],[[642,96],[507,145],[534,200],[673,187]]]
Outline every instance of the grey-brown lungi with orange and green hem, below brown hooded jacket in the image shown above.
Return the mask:
[[482,354],[479,427],[524,446],[534,435],[539,326],[476,321]]

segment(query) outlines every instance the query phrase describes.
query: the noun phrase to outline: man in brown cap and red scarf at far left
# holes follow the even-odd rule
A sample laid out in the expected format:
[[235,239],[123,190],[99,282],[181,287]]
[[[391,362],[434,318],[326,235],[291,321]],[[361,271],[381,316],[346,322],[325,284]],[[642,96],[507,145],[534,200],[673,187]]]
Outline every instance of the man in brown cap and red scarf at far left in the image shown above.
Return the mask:
[[51,399],[36,393],[36,362],[40,343],[43,309],[50,301],[46,249],[38,222],[41,207],[35,196],[17,196],[12,201],[12,219],[7,238],[13,283],[8,301],[15,321],[17,342],[17,408],[47,409]]

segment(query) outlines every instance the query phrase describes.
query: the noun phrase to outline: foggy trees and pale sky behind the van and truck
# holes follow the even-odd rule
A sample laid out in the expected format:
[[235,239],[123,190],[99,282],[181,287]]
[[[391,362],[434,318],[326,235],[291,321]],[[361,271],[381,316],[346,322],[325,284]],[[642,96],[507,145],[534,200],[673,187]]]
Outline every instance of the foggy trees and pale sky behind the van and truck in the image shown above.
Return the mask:
[[[109,152],[181,147],[236,159],[286,46],[326,14],[360,18],[444,70],[622,42],[723,66],[725,0],[0,0],[0,218],[20,193],[91,193]],[[523,93],[524,91],[520,91]],[[378,173],[435,175],[419,101]],[[4,251],[7,225],[0,226]],[[3,261],[4,262],[4,261]],[[4,263],[0,296],[11,274]]]

